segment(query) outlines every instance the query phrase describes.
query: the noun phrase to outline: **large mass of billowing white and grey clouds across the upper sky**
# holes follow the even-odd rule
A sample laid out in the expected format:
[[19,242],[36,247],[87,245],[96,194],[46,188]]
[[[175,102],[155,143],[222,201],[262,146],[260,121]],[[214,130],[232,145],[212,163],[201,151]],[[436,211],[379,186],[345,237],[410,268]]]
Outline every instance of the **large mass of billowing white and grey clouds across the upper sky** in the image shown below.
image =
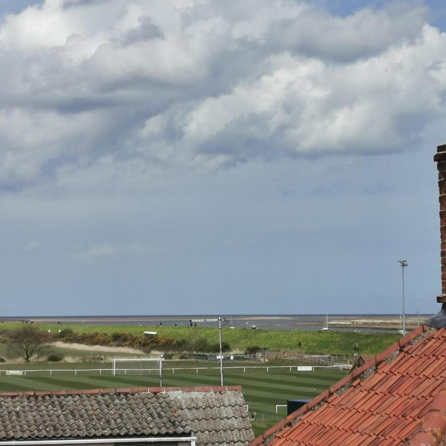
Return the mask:
[[[446,35],[400,2],[46,0],[0,27],[0,185],[134,159],[390,153],[445,116]],[[143,167],[144,168],[144,167]],[[51,176],[50,176],[51,177]]]

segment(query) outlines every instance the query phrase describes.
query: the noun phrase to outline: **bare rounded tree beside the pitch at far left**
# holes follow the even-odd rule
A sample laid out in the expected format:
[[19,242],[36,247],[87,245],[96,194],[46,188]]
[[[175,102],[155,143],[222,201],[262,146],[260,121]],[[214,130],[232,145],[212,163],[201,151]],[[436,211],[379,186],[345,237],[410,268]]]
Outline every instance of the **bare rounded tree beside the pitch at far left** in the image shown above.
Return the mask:
[[49,333],[28,325],[11,333],[9,339],[8,355],[22,358],[25,362],[46,355],[53,343]]

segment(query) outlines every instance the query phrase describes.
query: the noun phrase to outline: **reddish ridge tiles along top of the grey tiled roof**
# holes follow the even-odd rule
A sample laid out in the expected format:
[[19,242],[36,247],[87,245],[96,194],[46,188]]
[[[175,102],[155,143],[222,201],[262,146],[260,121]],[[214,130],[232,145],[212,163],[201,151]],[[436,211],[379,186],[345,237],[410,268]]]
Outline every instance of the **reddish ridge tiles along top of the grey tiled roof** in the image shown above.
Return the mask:
[[0,392],[1,396],[60,396],[60,395],[94,395],[99,393],[162,393],[162,392],[213,392],[242,390],[241,386],[209,387],[134,387],[129,389],[74,389],[74,390],[30,390],[17,392]]

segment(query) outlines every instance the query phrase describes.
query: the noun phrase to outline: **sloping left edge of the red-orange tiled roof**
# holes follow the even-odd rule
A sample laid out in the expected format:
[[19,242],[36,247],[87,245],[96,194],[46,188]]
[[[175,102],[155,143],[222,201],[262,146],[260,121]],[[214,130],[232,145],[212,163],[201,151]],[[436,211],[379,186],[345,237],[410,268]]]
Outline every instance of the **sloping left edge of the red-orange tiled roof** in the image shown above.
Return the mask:
[[368,369],[370,369],[373,366],[376,366],[381,361],[384,361],[387,357],[389,357],[394,352],[404,348],[411,340],[418,337],[419,335],[422,335],[423,333],[431,331],[432,328],[428,327],[427,325],[420,325],[415,330],[412,330],[410,333],[402,337],[401,339],[398,339],[396,342],[391,344],[386,350],[379,353],[378,355],[374,356],[373,359],[370,361],[367,361],[364,365],[359,367],[356,370],[353,370],[352,372],[348,373],[344,378],[342,378],[340,381],[338,381],[336,384],[334,384],[330,389],[324,390],[322,393],[320,393],[318,396],[313,398],[311,401],[309,401],[307,404],[303,405],[299,409],[297,409],[295,412],[288,415],[285,419],[279,421],[276,425],[274,425],[272,428],[268,429],[263,435],[260,435],[257,437],[253,442],[250,443],[249,446],[260,446],[260,445],[267,445],[269,442],[270,437],[272,437],[275,434],[278,434],[279,431],[281,431],[285,427],[290,427],[293,425],[293,421],[295,421],[298,417],[303,415],[308,410],[312,409],[316,405],[322,403],[325,401],[330,395],[335,393],[335,391],[339,390],[346,384],[350,382],[354,382],[356,379],[359,379],[359,377]]

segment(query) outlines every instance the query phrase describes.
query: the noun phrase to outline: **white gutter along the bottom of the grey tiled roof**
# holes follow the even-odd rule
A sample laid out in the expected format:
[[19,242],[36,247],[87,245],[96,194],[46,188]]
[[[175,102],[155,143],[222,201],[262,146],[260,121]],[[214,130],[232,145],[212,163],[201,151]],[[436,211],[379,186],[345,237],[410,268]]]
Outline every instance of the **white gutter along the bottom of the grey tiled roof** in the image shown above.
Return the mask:
[[0,446],[31,446],[31,445],[100,445],[116,443],[172,443],[188,442],[195,446],[197,437],[131,437],[131,438],[96,438],[96,439],[75,439],[75,440],[10,440],[0,442]]

